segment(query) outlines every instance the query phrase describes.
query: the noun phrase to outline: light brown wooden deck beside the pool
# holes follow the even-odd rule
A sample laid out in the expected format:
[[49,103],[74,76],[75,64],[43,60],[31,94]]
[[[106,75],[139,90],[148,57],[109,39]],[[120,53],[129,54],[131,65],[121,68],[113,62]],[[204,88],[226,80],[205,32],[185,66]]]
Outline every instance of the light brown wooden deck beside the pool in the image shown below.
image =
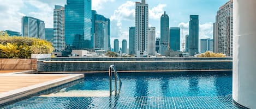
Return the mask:
[[33,86],[46,81],[60,79],[64,75],[0,75],[0,93],[13,91],[15,89]]

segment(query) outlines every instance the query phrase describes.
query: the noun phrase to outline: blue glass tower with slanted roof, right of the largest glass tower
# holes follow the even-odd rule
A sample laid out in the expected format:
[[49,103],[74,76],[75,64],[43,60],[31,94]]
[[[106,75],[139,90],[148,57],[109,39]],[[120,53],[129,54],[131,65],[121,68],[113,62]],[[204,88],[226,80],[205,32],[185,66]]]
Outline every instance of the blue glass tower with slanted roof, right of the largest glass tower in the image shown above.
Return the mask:
[[94,17],[94,49],[110,50],[110,20],[102,15],[96,14]]

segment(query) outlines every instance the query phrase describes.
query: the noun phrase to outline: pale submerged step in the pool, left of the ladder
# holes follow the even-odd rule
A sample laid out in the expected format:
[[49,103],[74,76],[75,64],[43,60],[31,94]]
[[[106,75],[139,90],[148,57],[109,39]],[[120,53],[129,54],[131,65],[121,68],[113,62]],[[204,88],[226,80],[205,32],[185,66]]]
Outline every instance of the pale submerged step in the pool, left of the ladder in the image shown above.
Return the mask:
[[109,97],[108,90],[73,90],[66,92],[57,92],[40,97]]

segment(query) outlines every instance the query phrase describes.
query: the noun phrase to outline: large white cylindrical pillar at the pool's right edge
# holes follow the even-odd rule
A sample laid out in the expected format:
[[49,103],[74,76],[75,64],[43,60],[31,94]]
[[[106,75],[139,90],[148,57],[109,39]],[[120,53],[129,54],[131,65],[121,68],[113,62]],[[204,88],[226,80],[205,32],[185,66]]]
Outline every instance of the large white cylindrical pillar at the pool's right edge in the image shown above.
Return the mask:
[[233,99],[256,108],[256,1],[234,0]]

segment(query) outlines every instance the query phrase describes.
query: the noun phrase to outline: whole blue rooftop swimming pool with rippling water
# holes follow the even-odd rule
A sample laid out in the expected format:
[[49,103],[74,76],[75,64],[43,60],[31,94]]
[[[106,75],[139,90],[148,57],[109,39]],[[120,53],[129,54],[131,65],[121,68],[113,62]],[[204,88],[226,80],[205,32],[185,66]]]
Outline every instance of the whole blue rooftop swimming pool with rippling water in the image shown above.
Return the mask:
[[117,96],[109,97],[108,73],[85,74],[79,84],[2,108],[238,108],[231,97],[231,71],[119,75]]

